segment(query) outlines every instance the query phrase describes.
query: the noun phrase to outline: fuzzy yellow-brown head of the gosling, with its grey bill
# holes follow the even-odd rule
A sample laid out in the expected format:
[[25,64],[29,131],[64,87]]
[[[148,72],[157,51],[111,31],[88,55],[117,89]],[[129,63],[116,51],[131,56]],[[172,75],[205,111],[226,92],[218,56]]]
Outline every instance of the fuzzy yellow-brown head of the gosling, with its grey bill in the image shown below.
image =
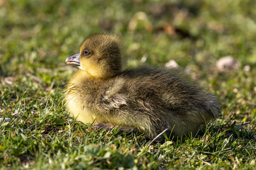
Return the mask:
[[114,35],[92,35],[80,47],[80,53],[65,62],[75,65],[95,79],[106,79],[121,72],[120,40]]

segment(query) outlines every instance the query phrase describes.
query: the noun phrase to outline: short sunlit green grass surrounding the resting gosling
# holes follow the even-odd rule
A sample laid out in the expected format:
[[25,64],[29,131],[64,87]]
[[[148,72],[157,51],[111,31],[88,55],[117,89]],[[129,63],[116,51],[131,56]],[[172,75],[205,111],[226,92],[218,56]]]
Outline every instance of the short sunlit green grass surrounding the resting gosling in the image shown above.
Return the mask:
[[[0,115],[11,120],[0,123],[1,169],[255,169],[255,7],[253,0],[1,0]],[[223,117],[203,135],[162,145],[75,122],[62,103],[76,70],[65,58],[93,33],[122,35],[127,65],[176,60],[218,96]],[[220,74],[215,62],[227,55],[240,68]]]

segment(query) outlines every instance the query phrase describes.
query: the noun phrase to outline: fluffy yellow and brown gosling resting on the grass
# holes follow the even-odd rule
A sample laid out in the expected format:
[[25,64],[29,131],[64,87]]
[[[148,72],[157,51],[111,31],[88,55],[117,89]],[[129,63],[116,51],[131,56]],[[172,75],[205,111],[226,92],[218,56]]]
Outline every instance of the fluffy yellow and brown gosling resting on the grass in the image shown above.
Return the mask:
[[[82,123],[134,128],[148,139],[167,130],[195,135],[220,115],[220,103],[179,69],[139,67],[122,71],[120,40],[92,35],[65,62],[80,70],[65,90],[65,106]],[[164,142],[161,135],[156,142]]]

